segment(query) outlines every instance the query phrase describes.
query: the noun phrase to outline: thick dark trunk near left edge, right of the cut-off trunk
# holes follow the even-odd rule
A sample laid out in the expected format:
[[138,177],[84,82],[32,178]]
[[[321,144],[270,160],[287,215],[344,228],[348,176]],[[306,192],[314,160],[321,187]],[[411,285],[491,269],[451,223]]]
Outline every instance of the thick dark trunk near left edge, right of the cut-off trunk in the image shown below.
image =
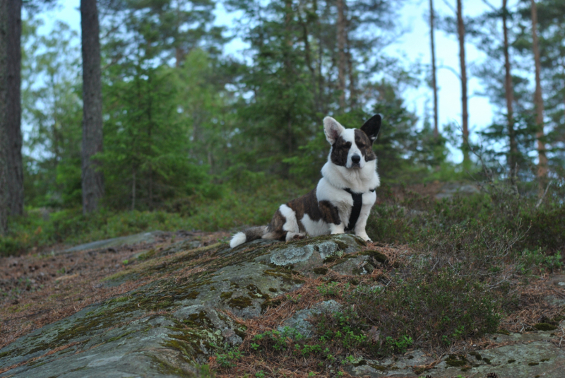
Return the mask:
[[22,105],[21,105],[22,0],[8,1],[6,127],[8,137],[8,213],[23,214]]

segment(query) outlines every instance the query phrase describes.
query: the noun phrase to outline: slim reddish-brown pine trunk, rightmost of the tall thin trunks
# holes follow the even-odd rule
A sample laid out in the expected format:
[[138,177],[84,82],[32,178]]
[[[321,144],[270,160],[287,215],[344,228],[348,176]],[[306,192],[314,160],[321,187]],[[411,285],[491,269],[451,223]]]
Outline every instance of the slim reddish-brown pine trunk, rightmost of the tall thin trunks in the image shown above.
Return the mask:
[[537,138],[537,179],[540,183],[539,194],[543,196],[545,189],[545,182],[547,181],[547,155],[545,154],[545,142],[544,142],[544,131],[543,131],[543,98],[542,98],[542,83],[541,83],[541,64],[540,64],[540,44],[537,40],[537,6],[535,5],[535,0],[530,0],[532,4],[532,47],[534,50],[534,60],[535,60],[535,95],[534,95],[534,105],[535,105],[535,123],[539,128],[535,134]]

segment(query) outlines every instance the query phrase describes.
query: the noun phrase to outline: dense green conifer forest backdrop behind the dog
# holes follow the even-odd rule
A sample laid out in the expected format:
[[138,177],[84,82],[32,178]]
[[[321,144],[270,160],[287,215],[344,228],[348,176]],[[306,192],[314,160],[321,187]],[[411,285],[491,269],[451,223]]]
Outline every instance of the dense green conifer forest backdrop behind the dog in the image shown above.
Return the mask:
[[[23,210],[7,218],[0,248],[266,222],[280,201],[319,179],[328,114],[347,127],[383,115],[375,150],[388,186],[494,178],[562,203],[564,2],[485,0],[489,11],[470,18],[465,1],[446,1],[452,13],[434,13],[430,0],[422,14],[430,27],[422,33],[451,33],[460,45],[434,51],[431,33],[434,59],[460,58],[463,114],[445,125],[434,106],[435,61],[407,64],[382,52],[402,33],[399,12],[410,0],[225,0],[239,15],[231,30],[213,23],[213,0],[90,1],[100,21],[103,125],[92,159],[103,191],[88,211],[81,35],[62,21],[40,35],[39,15],[57,1],[23,1],[21,122],[31,131],[23,138]],[[10,25],[11,13],[2,13],[1,25]],[[228,35],[249,44],[242,57],[225,54]],[[489,59],[468,67],[468,45]],[[470,76],[495,110],[475,136]],[[429,88],[424,114],[405,104],[407,86]],[[462,163],[448,158],[450,148],[462,151]]]

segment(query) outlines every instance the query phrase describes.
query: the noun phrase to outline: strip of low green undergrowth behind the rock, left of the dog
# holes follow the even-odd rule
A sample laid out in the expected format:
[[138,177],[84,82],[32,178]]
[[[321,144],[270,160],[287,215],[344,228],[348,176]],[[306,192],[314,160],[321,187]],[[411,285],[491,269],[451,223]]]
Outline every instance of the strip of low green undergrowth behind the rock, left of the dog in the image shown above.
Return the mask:
[[[280,203],[300,194],[290,183],[271,180],[249,184],[249,191],[226,187],[218,199],[186,197],[186,208],[158,211],[101,211],[83,215],[80,208],[49,213],[28,209],[27,216],[12,218],[10,232],[0,239],[0,255],[24,252],[51,244],[93,242],[138,232],[162,230],[226,230],[244,225],[266,224]],[[177,212],[174,212],[177,211]]]

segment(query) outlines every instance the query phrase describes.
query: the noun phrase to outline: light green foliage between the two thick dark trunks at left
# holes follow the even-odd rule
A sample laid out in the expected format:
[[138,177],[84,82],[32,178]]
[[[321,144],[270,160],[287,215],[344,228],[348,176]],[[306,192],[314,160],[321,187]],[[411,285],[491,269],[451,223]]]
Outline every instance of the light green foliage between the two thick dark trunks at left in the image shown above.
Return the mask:
[[82,88],[78,37],[58,21],[49,35],[37,35],[42,23],[23,23],[23,121],[32,126],[24,156],[25,203],[72,208],[82,201]]

